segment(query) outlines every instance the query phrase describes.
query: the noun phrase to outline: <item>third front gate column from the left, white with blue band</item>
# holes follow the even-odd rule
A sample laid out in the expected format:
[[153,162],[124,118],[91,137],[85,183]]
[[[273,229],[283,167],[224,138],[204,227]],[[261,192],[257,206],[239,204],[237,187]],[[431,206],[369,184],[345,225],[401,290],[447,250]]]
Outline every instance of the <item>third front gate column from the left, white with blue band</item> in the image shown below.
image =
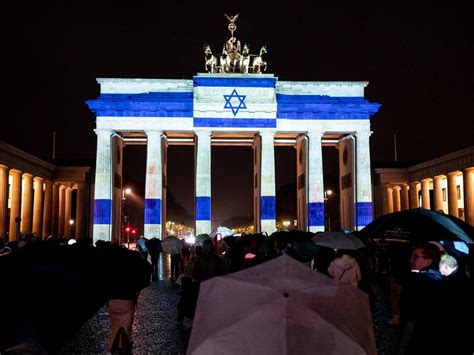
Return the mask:
[[211,232],[211,132],[196,132],[196,235]]

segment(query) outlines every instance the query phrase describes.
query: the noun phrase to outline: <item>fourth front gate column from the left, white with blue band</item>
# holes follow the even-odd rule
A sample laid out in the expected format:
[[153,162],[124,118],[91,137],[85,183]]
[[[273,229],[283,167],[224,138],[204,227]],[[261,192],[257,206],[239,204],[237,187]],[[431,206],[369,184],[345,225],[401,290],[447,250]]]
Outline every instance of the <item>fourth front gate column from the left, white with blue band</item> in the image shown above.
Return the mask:
[[260,132],[261,170],[260,170],[260,226],[268,235],[276,230],[275,198],[275,132]]

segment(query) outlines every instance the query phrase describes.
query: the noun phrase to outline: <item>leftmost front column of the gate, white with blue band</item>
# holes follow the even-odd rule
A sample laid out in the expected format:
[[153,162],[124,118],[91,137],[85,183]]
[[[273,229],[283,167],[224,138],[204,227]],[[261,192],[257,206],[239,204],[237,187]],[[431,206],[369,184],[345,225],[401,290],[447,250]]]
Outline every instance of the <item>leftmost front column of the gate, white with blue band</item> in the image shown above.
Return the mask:
[[112,131],[96,129],[93,242],[112,241]]

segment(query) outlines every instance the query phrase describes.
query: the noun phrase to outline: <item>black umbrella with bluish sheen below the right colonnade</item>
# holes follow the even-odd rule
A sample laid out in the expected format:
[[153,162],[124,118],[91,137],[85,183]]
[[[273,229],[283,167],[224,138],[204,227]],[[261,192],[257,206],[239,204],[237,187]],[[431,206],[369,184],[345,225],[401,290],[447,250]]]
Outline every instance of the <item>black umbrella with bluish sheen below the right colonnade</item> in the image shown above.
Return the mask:
[[474,227],[453,216],[416,208],[377,218],[357,233],[361,238],[474,243]]

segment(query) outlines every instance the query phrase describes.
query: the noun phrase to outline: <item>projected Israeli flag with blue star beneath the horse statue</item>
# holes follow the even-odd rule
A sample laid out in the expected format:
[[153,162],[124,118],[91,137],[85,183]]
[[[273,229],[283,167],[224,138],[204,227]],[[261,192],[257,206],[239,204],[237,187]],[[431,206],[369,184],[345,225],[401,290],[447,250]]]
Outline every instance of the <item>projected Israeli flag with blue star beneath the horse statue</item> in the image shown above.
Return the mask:
[[272,74],[198,74],[194,127],[275,128],[276,79]]

